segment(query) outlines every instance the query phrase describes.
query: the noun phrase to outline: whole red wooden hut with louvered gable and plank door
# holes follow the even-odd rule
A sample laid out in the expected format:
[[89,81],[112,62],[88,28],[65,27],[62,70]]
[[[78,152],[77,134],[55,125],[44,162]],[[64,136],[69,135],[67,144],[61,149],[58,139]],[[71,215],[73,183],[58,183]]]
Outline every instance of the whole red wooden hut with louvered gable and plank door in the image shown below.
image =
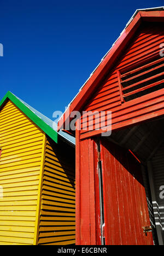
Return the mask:
[[58,123],[81,114],[77,245],[163,245],[163,25],[163,7],[137,10]]

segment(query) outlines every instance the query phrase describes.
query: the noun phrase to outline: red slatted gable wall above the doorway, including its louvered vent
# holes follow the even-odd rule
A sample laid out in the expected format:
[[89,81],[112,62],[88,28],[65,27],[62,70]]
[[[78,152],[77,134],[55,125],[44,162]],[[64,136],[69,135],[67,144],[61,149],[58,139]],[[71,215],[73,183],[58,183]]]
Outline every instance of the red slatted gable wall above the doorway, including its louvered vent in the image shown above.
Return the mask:
[[[161,115],[163,110],[162,113],[160,110],[164,107],[164,74],[160,44],[163,42],[163,23],[145,22],[83,110],[111,110],[113,130]],[[142,96],[144,92],[145,95]],[[83,129],[80,138],[100,133],[89,131],[92,122],[86,114],[82,118]],[[95,130],[99,120],[93,117],[93,121]],[[104,126],[106,124],[107,117]]]

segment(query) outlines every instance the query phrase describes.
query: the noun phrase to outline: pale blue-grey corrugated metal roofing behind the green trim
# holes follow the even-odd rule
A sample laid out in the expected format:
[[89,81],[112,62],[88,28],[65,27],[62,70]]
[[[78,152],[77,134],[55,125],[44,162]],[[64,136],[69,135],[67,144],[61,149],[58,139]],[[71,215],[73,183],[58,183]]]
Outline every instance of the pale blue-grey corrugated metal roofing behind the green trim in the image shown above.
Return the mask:
[[[37,117],[39,117],[40,119],[42,119],[44,121],[44,123],[48,124],[55,132],[57,132],[57,124],[55,124],[54,121],[52,121],[51,119],[49,119],[48,117],[45,117],[45,115],[43,115],[42,113],[40,113],[38,110],[34,109],[33,107],[31,107],[29,104],[27,104],[26,102],[22,101],[19,97],[17,97],[16,95],[14,95],[19,101],[21,101],[27,108],[29,108],[34,114],[37,115]],[[57,132],[58,135],[60,135],[62,138],[66,139],[67,142],[73,144],[75,146],[75,137],[69,135],[66,132],[63,131],[59,131]]]

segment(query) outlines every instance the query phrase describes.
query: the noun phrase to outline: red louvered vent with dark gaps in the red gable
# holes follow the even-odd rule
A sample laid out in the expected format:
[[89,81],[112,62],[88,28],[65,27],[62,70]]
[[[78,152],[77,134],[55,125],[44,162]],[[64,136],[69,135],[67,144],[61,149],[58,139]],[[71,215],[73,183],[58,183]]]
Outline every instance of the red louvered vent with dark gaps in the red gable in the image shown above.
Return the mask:
[[156,55],[128,70],[118,71],[121,101],[130,101],[164,88],[163,66],[164,58]]

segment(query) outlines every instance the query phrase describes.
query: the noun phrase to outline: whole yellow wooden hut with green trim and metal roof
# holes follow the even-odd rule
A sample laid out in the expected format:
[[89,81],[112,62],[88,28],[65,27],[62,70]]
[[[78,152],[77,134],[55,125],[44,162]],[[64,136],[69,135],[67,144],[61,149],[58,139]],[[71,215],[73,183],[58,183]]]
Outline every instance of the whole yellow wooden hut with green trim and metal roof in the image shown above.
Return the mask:
[[0,245],[75,243],[75,138],[8,92],[0,102]]

